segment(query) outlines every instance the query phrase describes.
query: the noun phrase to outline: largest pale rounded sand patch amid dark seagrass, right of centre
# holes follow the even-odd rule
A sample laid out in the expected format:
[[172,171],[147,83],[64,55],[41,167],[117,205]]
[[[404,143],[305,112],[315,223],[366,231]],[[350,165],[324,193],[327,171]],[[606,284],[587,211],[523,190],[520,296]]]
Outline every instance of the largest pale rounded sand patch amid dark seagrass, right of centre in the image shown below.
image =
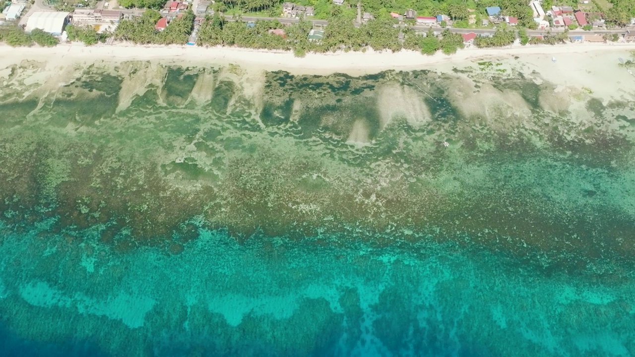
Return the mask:
[[377,111],[379,112],[380,130],[397,116],[405,118],[412,126],[427,123],[431,118],[422,94],[410,86],[400,86],[396,83],[384,86],[379,90]]

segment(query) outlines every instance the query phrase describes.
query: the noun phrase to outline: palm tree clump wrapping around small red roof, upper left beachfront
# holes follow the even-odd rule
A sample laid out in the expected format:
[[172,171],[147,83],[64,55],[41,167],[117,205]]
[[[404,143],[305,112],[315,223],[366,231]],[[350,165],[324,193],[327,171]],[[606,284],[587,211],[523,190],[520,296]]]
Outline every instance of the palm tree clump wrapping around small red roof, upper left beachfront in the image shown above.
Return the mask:
[[185,44],[194,28],[194,13],[187,10],[182,17],[175,18],[163,31],[154,29],[161,14],[156,10],[146,10],[140,17],[121,20],[113,36],[121,41],[139,44]]

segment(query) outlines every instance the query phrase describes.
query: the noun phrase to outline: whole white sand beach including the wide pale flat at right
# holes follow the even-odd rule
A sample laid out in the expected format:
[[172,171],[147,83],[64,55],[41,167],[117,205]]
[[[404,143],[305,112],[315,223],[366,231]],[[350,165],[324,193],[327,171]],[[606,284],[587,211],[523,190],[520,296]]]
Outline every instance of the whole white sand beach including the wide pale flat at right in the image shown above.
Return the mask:
[[[117,44],[84,46],[59,44],[52,48],[11,48],[0,45],[0,70],[23,60],[45,64],[45,72],[63,71],[69,64],[145,60],[184,66],[240,65],[249,72],[288,71],[291,74],[372,74],[386,70],[427,69],[451,72],[478,67],[477,62],[496,61],[498,71],[522,72],[535,81],[547,80],[559,90],[577,88],[592,91],[594,97],[635,98],[635,76],[618,65],[618,59],[632,58],[635,43],[575,43],[565,45],[509,46],[507,48],[467,48],[454,55],[427,56],[415,51],[309,53],[304,58],[287,51],[246,48],[201,48],[198,46],[138,46]],[[6,71],[1,71],[6,72]],[[40,75],[44,75],[41,73]],[[0,81],[3,73],[0,73]],[[555,100],[555,99],[554,99]]]

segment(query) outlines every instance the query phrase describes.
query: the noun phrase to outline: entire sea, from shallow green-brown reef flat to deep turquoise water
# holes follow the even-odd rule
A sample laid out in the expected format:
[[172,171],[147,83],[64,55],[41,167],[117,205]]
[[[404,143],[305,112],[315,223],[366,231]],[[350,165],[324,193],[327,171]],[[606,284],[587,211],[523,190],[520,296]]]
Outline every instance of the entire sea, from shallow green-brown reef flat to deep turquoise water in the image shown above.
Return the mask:
[[486,67],[0,72],[4,355],[635,354],[634,105]]

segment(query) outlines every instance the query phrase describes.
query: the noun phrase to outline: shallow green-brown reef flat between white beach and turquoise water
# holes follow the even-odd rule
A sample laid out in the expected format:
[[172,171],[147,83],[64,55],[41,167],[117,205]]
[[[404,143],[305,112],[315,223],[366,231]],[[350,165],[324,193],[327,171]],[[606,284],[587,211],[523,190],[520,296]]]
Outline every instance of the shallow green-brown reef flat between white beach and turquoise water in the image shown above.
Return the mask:
[[196,217],[243,238],[441,232],[572,271],[635,256],[627,104],[583,93],[567,106],[547,81],[508,72],[292,76],[127,62],[25,84],[39,68],[15,67],[0,95],[10,224],[100,225],[122,251],[180,253]]

